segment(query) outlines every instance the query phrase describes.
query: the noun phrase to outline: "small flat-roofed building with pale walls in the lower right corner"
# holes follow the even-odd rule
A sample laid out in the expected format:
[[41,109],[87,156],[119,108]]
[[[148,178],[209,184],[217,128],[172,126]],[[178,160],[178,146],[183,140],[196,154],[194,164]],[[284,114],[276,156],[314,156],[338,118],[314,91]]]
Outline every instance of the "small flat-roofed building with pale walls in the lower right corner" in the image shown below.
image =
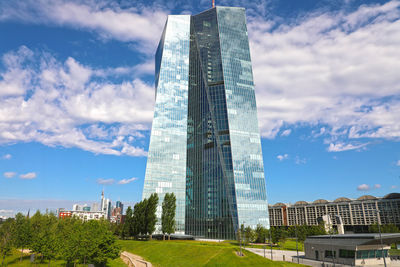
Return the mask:
[[304,242],[305,258],[351,266],[389,264],[390,245],[400,241],[400,234],[345,234],[309,236]]

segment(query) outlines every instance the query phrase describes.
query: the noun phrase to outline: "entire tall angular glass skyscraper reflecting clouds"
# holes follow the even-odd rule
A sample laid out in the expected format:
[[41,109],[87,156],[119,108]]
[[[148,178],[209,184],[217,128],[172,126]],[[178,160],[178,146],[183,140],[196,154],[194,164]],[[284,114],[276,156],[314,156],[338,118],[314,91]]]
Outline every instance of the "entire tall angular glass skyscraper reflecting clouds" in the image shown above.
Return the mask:
[[143,198],[177,196],[177,232],[234,239],[269,226],[245,10],[168,16]]

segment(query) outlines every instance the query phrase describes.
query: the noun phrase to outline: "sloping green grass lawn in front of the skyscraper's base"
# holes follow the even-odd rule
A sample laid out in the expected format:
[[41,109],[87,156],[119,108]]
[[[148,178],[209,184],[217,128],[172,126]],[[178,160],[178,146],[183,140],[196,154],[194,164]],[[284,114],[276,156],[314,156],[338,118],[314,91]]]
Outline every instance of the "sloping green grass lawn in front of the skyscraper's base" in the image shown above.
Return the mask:
[[123,250],[142,256],[154,266],[296,266],[290,262],[273,262],[244,251],[228,242],[204,241],[134,241],[120,240]]

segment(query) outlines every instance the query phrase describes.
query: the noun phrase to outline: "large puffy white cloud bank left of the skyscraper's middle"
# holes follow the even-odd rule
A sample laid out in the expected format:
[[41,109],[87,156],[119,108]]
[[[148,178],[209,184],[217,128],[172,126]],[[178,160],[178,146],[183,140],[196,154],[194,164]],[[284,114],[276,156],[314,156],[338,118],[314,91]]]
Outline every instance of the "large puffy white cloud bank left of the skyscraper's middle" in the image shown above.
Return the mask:
[[19,77],[24,85],[19,94],[0,96],[0,144],[40,142],[96,154],[146,155],[134,142],[150,128],[150,85],[137,78],[112,83],[98,79],[114,75],[109,69],[93,69],[71,57],[63,63],[50,54],[28,51],[22,46],[3,56],[0,77],[15,70],[32,75]]

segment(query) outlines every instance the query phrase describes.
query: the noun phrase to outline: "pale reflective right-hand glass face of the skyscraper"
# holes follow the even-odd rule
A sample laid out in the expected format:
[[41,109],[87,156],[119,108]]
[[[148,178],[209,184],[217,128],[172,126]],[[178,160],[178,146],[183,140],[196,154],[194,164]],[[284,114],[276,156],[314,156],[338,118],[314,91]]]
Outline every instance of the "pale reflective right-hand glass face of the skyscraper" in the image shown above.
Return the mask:
[[217,7],[239,225],[269,227],[244,8]]

